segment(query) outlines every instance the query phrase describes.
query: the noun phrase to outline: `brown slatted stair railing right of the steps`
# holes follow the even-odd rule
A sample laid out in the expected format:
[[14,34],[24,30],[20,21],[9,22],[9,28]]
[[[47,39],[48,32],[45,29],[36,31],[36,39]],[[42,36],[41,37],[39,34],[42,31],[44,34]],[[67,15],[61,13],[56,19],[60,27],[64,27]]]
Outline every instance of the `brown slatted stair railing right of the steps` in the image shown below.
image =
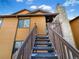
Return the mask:
[[[56,24],[54,24],[56,25]],[[79,51],[71,46],[59,33],[59,29],[52,28],[53,24],[48,25],[49,38],[54,44],[54,49],[57,52],[58,59],[79,59]],[[60,25],[58,25],[60,28]],[[56,27],[57,28],[57,27]]]

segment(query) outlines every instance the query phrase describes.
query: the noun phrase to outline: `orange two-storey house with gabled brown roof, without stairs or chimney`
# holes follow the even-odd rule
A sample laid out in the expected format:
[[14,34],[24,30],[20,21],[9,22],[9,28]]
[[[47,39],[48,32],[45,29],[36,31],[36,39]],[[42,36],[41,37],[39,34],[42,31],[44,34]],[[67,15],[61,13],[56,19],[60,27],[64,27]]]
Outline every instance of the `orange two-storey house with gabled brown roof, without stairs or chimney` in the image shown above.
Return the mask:
[[22,44],[34,25],[37,25],[38,34],[46,35],[46,23],[52,22],[56,15],[42,10],[30,12],[24,9],[0,16],[0,59],[11,59],[14,45],[16,49],[19,48],[17,46]]

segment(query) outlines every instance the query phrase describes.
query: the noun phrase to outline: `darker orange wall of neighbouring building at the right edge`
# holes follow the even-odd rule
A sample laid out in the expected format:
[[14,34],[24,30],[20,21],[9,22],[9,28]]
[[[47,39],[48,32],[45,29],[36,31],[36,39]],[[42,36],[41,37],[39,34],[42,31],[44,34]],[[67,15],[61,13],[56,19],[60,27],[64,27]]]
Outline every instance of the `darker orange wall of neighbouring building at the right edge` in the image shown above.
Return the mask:
[[79,49],[79,18],[70,22],[76,47]]

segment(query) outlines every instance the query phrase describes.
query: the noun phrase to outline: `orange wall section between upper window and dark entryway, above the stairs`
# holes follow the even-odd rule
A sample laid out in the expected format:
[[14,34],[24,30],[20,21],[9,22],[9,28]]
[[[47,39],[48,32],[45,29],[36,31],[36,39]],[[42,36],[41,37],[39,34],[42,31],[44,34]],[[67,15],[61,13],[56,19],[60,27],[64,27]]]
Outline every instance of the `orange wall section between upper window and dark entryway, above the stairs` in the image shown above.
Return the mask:
[[37,25],[38,34],[46,34],[46,20],[44,16],[31,17],[30,29],[35,25]]

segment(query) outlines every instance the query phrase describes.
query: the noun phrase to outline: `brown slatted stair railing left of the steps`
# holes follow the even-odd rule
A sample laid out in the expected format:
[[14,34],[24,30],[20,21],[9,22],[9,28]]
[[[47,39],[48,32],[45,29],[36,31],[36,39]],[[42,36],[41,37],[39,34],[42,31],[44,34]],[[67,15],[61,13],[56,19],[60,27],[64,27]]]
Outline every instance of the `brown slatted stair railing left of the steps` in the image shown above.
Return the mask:
[[34,26],[22,46],[13,54],[12,59],[31,59],[36,33],[36,26]]

